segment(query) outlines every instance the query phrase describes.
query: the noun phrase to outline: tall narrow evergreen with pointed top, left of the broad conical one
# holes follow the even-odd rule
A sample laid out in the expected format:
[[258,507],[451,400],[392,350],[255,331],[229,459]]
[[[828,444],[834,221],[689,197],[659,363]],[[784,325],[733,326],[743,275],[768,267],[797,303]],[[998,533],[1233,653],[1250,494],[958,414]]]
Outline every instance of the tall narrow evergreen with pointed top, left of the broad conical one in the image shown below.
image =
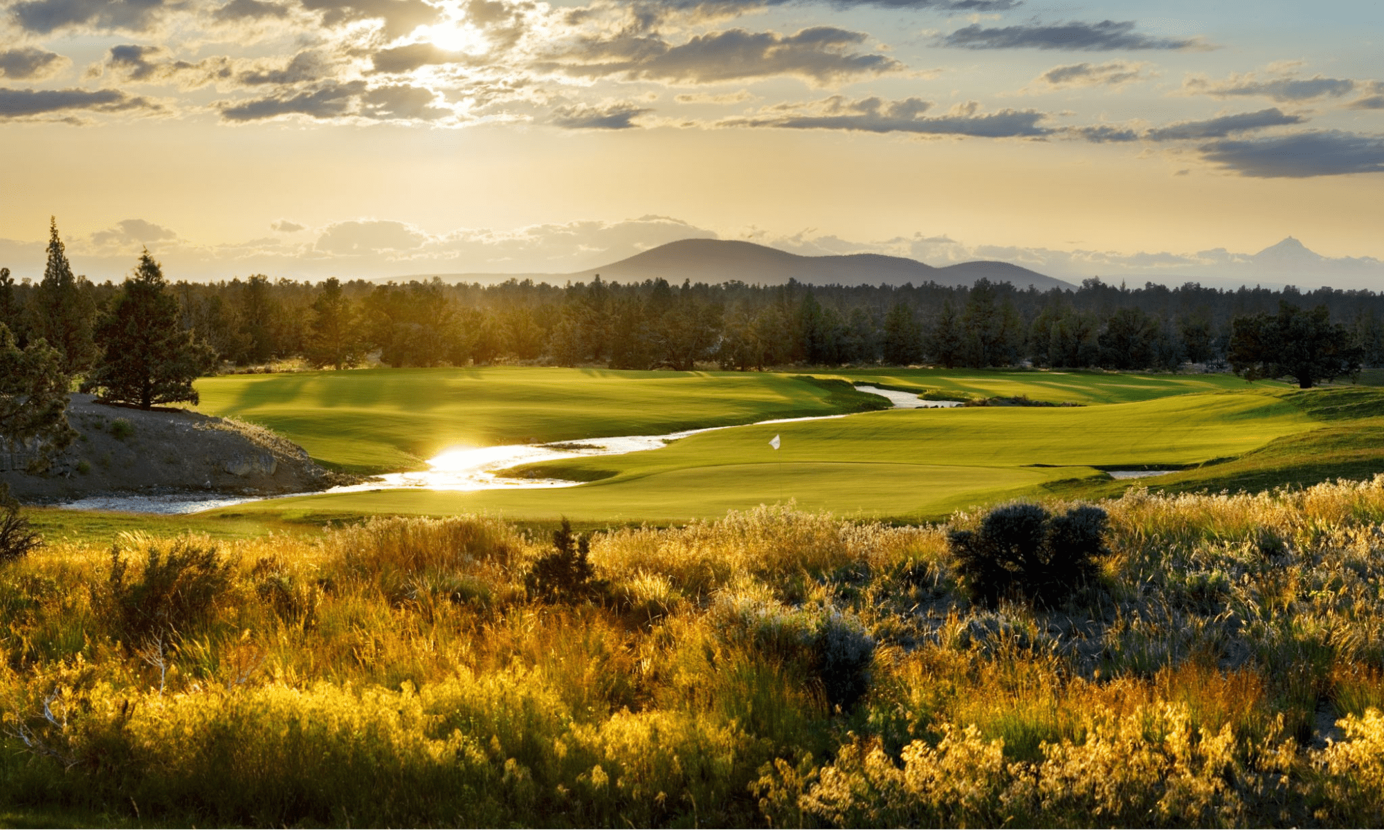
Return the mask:
[[29,307],[29,333],[58,350],[68,375],[89,369],[97,354],[91,333],[95,303],[83,288],[87,288],[86,279],[72,275],[72,264],[58,238],[58,220],[51,219],[48,264]]

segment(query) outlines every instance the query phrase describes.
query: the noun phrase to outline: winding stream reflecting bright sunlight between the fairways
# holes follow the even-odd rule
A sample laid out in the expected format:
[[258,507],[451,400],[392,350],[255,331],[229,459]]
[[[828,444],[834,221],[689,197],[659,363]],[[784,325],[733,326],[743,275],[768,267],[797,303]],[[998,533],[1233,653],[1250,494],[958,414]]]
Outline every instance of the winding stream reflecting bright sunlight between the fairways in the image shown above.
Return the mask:
[[[925,401],[908,391],[879,389],[876,386],[858,385],[855,389],[877,394],[890,400],[895,409],[920,409],[933,407],[958,407],[960,401]],[[779,418],[774,421],[760,421],[758,423],[793,423],[799,421],[828,421],[833,418],[848,418],[848,415],[817,415],[812,418]],[[735,425],[743,426],[743,425]],[[448,450],[436,458],[428,459],[426,470],[411,473],[386,473],[375,476],[363,484],[346,487],[332,487],[320,492],[365,492],[371,490],[536,490],[544,487],[576,487],[581,481],[566,481],[558,479],[508,479],[498,473],[522,463],[536,463],[544,461],[558,461],[562,458],[580,458],[583,455],[624,455],[627,452],[642,452],[657,450],[670,441],[695,436],[698,433],[717,429],[732,429],[732,426],[710,426],[704,429],[689,429],[662,436],[617,436],[609,439],[584,439],[579,441],[554,441],[549,444],[508,444],[501,447],[473,447]],[[83,498],[64,505],[72,510],[126,510],[131,513],[201,513],[253,501],[268,501],[274,498],[289,498],[306,495],[292,492],[285,495],[246,495],[226,497],[206,494],[167,494],[167,495],[100,495]]]

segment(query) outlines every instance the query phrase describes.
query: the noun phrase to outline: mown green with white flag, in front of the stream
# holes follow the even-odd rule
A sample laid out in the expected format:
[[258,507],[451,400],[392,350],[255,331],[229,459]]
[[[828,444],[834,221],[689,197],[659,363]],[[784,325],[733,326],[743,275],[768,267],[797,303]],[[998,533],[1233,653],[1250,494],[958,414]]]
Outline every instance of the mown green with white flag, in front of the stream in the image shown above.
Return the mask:
[[[678,522],[794,498],[810,509],[931,517],[956,508],[1096,476],[1093,466],[1189,465],[1254,450],[1312,421],[1269,394],[1179,396],[1082,408],[873,412],[743,426],[653,451],[579,458],[544,474],[608,477],[561,490],[376,491],[227,508],[284,519],[353,513],[501,510],[511,517]],[[782,434],[775,454],[768,440]],[[1052,466],[1031,466],[1052,465]]]

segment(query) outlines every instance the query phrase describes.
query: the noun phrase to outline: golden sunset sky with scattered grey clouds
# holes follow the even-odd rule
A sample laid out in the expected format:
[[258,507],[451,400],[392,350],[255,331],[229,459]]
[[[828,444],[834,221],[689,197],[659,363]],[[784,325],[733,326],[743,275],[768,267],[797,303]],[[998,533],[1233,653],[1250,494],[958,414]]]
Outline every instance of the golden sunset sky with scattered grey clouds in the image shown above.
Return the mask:
[[1381,50],[1374,0],[0,0],[0,266],[55,216],[101,281],[717,237],[1384,289]]

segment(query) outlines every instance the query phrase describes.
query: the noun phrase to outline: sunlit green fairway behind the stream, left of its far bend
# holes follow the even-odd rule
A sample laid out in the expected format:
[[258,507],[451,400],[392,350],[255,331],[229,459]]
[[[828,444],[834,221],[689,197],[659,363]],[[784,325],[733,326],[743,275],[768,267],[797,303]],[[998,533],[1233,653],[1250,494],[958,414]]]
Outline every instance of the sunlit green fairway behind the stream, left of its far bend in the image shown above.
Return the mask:
[[260,423],[361,473],[418,469],[458,445],[662,434],[879,401],[787,375],[518,367],[230,375],[197,389],[203,412]]

